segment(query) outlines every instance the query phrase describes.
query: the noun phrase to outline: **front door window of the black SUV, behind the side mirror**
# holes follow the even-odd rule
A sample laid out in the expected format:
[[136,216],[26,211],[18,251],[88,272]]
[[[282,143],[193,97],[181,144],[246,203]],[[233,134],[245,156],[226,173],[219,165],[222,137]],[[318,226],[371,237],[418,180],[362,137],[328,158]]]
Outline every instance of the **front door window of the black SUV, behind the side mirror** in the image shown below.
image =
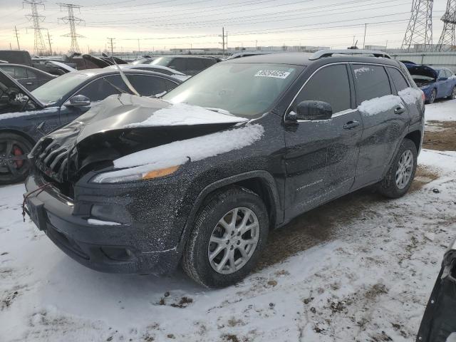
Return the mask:
[[294,109],[305,100],[329,103],[333,113],[351,108],[350,83],[345,65],[326,66],[311,77],[296,97]]

